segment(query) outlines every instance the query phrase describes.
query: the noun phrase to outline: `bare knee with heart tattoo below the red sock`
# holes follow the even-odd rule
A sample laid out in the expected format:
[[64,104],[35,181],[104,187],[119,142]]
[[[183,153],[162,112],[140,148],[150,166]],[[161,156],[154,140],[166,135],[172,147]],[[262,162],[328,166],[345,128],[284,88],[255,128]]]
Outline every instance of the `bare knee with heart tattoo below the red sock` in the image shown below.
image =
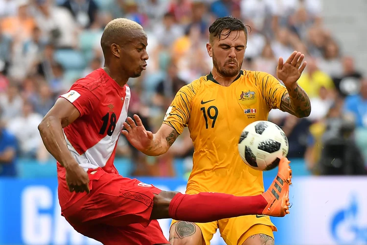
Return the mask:
[[171,245],[204,245],[203,235],[195,223],[178,221],[169,230]]

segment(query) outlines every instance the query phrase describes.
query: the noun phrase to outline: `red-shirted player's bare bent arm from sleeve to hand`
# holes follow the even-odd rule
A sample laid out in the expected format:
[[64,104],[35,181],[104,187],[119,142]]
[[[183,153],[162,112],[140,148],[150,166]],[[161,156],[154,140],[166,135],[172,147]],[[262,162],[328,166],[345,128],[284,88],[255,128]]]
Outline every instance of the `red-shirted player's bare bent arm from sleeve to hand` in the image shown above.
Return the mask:
[[78,165],[66,144],[63,128],[80,117],[79,111],[69,101],[59,98],[46,114],[38,130],[47,151],[67,170],[70,192],[89,193],[88,174]]

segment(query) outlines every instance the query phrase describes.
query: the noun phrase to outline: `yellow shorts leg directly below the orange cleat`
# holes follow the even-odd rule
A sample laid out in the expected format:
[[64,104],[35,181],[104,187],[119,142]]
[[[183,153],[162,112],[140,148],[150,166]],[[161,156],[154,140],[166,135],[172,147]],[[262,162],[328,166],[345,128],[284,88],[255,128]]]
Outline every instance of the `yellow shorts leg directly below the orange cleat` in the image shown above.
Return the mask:
[[249,237],[256,234],[274,237],[273,231],[276,231],[276,227],[268,216],[247,215],[218,222],[223,240],[230,245],[242,245]]

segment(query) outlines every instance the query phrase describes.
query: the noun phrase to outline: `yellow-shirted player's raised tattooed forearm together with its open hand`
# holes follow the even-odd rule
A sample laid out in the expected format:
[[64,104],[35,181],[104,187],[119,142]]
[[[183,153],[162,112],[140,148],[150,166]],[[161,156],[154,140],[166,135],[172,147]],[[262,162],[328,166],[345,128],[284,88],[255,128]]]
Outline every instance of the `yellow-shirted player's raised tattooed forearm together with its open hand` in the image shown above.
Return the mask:
[[311,113],[310,98],[297,83],[306,68],[307,63],[302,63],[303,59],[304,54],[294,51],[285,63],[279,58],[276,68],[278,78],[283,81],[288,91],[283,95],[279,109],[298,118],[308,117]]

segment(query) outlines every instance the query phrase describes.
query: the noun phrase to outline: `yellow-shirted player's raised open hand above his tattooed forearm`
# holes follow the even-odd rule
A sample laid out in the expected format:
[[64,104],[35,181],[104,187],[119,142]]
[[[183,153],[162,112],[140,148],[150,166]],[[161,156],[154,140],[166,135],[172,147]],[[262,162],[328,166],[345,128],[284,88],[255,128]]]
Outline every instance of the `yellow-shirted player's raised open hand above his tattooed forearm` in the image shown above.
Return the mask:
[[303,62],[304,54],[294,51],[284,63],[280,57],[276,67],[276,75],[283,81],[287,88],[293,88],[297,85],[297,80],[306,68],[307,62]]

